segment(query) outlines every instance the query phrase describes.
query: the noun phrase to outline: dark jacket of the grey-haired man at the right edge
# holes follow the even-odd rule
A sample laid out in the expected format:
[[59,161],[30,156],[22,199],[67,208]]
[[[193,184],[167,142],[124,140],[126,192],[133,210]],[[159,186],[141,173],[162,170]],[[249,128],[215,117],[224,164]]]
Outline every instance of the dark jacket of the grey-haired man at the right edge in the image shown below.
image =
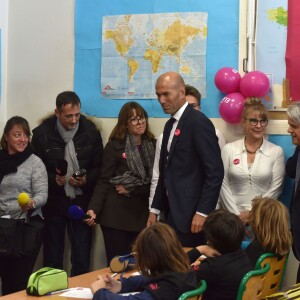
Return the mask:
[[[293,156],[291,156],[285,165],[286,173],[289,177],[296,177],[297,158],[300,148],[297,147]],[[295,257],[300,260],[300,182],[297,191],[292,193],[290,205],[291,231],[293,235],[293,252]]]

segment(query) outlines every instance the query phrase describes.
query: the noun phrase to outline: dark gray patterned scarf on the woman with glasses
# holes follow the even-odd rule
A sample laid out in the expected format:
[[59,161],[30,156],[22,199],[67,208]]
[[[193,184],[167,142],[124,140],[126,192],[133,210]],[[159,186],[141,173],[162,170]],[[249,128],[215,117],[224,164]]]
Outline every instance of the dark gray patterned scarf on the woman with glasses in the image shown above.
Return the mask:
[[110,183],[113,185],[121,184],[130,192],[132,192],[136,186],[149,184],[152,177],[155,152],[152,141],[147,138],[142,138],[142,151],[148,168],[147,173],[135,140],[133,136],[128,133],[126,136],[125,153],[129,171],[126,171],[123,175],[111,178]]

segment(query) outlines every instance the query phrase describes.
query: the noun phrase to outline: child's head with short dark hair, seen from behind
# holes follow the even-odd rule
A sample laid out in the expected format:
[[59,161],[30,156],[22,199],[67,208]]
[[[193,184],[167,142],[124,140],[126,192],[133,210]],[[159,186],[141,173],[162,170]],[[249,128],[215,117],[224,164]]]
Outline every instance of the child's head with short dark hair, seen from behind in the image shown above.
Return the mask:
[[245,235],[245,226],[239,217],[222,209],[208,215],[203,230],[208,244],[221,254],[237,251]]

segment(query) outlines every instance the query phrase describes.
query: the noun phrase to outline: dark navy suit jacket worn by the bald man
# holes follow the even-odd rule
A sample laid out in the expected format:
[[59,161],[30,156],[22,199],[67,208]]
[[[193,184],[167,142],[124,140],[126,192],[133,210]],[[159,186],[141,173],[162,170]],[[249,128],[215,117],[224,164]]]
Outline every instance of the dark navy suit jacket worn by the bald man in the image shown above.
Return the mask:
[[[203,113],[188,105],[177,129],[167,167],[164,168],[160,163],[160,176],[152,208],[163,211],[166,182],[174,222],[181,232],[187,233],[191,230],[196,211],[209,214],[215,209],[224,168],[215,128]],[[160,162],[163,155],[162,149]]]

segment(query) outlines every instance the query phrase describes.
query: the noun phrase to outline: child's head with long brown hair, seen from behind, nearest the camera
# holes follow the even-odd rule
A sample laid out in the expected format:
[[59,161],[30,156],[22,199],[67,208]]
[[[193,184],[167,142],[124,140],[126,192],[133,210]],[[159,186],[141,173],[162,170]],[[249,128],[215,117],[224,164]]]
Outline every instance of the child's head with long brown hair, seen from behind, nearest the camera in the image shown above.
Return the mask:
[[139,234],[133,252],[137,269],[148,277],[165,272],[187,272],[190,269],[187,255],[175,231],[161,222],[154,223]]

